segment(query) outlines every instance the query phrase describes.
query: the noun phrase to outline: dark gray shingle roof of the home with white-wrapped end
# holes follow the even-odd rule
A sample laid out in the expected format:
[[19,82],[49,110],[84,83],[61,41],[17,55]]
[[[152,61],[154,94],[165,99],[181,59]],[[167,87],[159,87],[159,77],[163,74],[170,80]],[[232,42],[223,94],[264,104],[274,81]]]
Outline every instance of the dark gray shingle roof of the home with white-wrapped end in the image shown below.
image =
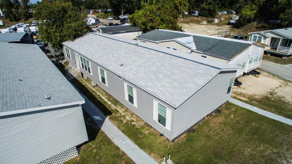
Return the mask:
[[136,36],[139,39],[145,39],[149,41],[164,41],[164,40],[172,40],[178,38],[184,38],[193,36],[194,44],[196,46],[196,50],[209,53],[221,57],[225,57],[231,59],[242,50],[251,45],[251,43],[243,43],[239,41],[231,41],[231,39],[212,37],[212,36],[204,36],[198,34],[190,34],[183,32],[174,32],[174,31],[166,31],[166,30],[153,30],[142,34],[140,36]]

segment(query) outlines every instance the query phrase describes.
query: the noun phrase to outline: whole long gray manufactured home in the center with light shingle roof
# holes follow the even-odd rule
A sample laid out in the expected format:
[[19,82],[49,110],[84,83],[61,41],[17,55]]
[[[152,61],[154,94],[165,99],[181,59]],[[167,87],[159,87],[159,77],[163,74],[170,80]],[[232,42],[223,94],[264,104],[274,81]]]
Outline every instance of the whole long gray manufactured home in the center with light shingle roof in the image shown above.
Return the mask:
[[63,48],[72,71],[171,141],[229,100],[242,69],[108,34],[88,33]]

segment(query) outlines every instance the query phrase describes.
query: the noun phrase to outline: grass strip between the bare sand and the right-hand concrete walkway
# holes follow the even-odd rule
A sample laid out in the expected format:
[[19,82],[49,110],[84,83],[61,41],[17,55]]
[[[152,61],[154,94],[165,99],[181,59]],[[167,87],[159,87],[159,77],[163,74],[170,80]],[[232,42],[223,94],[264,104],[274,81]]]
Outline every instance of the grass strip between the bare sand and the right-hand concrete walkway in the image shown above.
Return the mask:
[[[284,100],[283,97],[276,95],[274,92],[270,92],[268,95],[265,95],[261,98],[255,98],[252,95],[248,94],[243,95],[237,92],[233,92],[232,95],[233,98],[238,99],[242,102],[251,104],[255,107],[258,107],[266,111],[270,111],[274,114],[278,114],[280,116],[292,119],[291,104]],[[241,98],[236,97],[236,95],[240,95],[241,97],[244,97],[247,100],[242,100]]]

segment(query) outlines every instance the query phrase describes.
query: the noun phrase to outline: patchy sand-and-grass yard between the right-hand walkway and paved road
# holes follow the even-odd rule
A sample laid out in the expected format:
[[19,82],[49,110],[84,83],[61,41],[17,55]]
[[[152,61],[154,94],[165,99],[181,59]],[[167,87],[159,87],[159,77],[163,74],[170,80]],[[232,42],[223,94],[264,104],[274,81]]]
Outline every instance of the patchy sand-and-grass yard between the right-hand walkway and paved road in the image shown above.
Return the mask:
[[292,82],[261,71],[259,78],[243,76],[243,85],[233,88],[232,97],[255,107],[292,119]]

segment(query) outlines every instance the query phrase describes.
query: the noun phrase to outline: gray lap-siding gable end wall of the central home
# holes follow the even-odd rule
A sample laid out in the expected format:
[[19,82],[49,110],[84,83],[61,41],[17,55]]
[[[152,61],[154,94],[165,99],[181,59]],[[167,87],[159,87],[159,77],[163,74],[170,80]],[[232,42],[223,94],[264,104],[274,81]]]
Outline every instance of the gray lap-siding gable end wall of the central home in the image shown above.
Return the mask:
[[195,123],[228,101],[231,94],[227,94],[228,84],[235,71],[221,71],[197,93],[174,110],[173,137],[177,137]]

